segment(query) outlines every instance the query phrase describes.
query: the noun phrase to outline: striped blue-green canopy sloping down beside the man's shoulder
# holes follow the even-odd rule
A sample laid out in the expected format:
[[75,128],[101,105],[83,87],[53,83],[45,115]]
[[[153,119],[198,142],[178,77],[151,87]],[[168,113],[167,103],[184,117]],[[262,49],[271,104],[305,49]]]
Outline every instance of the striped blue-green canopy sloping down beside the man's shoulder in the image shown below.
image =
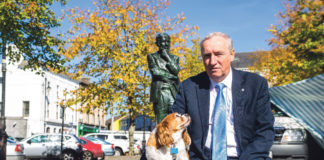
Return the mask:
[[324,74],[269,92],[271,102],[303,125],[324,149]]

